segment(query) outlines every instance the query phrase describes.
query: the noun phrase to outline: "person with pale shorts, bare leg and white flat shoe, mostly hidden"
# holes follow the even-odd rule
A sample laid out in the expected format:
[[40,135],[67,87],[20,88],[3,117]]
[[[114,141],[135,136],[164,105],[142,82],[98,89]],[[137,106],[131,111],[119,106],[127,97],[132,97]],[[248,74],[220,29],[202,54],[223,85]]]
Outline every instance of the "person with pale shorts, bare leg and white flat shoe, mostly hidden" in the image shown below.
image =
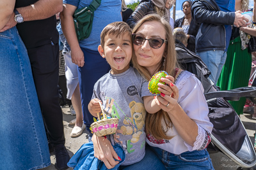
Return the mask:
[[[60,33],[60,40],[63,43],[62,53],[65,60],[67,99],[72,101],[72,108],[74,108],[74,112],[76,113],[76,118],[71,120],[69,123],[70,125],[75,125],[70,134],[70,136],[74,138],[80,136],[85,129],[85,125],[83,124],[83,111],[78,83],[78,69],[77,65],[72,62],[70,46],[68,45],[67,39],[62,32],[61,25],[58,25],[58,31]],[[72,115],[72,110],[70,109],[70,111]]]

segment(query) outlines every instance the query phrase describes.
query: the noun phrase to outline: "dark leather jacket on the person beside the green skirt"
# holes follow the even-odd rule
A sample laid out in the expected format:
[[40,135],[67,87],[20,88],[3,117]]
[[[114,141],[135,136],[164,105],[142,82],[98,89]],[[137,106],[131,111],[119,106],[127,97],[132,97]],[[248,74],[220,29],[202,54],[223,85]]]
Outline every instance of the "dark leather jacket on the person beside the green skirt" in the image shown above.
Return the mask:
[[234,12],[221,11],[214,0],[196,0],[191,8],[195,22],[201,24],[196,35],[196,52],[225,50],[224,25],[233,25]]

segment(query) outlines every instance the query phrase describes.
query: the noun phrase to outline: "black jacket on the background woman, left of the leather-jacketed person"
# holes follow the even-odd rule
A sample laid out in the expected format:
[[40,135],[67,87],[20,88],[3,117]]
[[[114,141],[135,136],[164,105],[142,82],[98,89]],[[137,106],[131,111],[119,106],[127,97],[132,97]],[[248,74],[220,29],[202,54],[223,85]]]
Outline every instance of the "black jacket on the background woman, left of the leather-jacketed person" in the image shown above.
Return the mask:
[[[184,17],[175,20],[174,28],[182,27],[183,21],[184,21]],[[195,52],[195,48],[196,48],[195,39],[196,39],[196,34],[198,32],[199,27],[200,27],[200,24],[197,24],[195,20],[192,18],[189,25],[189,29],[188,29],[189,39],[188,39],[188,45],[187,45],[187,48],[192,52]]]

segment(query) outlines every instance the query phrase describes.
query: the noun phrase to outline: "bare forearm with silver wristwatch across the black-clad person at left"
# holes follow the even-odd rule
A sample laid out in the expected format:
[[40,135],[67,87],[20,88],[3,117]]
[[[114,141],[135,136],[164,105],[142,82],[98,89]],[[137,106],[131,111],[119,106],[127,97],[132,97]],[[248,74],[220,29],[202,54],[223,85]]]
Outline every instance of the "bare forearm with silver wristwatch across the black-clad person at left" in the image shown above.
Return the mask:
[[29,6],[15,8],[12,16],[0,32],[6,31],[7,29],[10,29],[16,24],[20,24],[22,22],[43,20],[45,18],[52,17],[52,15],[61,12],[62,9],[62,0],[39,0],[35,4],[31,4]]

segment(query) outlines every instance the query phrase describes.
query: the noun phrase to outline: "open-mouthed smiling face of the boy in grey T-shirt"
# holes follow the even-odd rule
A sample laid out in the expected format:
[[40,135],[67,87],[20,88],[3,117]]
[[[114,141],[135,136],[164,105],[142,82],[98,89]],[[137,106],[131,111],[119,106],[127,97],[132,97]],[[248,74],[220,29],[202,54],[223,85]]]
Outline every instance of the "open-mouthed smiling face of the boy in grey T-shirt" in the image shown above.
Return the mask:
[[129,33],[121,36],[107,34],[105,37],[105,44],[102,48],[99,45],[100,55],[108,61],[111,66],[111,74],[124,73],[129,69],[129,64],[132,57],[132,43]]

